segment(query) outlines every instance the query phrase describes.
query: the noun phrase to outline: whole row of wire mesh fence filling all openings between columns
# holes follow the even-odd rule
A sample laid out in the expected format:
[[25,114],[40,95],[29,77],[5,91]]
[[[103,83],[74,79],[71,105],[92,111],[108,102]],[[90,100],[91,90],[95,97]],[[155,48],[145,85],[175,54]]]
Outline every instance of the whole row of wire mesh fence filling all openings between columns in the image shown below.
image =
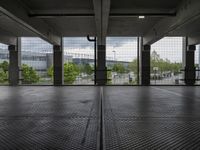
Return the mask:
[[[108,84],[138,84],[136,37],[108,37]],[[94,85],[94,43],[86,37],[63,38],[64,83]],[[53,84],[53,46],[40,38],[22,38],[21,84]],[[8,84],[8,46],[0,44],[0,84]],[[164,37],[151,46],[151,85],[184,85],[183,39]],[[200,85],[200,45],[195,51],[196,85]]]

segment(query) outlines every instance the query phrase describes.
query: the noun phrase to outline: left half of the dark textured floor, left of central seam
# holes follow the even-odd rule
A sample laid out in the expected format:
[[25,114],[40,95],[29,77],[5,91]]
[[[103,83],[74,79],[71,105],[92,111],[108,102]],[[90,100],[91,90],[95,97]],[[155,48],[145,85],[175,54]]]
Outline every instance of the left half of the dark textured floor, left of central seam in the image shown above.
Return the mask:
[[98,88],[1,88],[1,150],[96,149]]

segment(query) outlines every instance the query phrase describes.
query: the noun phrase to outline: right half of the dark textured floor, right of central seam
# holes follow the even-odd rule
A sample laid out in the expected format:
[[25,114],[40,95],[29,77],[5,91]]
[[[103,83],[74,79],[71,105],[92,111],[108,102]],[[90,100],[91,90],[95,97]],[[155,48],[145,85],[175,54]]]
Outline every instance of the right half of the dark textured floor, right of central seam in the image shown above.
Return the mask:
[[105,87],[109,150],[200,149],[199,87]]

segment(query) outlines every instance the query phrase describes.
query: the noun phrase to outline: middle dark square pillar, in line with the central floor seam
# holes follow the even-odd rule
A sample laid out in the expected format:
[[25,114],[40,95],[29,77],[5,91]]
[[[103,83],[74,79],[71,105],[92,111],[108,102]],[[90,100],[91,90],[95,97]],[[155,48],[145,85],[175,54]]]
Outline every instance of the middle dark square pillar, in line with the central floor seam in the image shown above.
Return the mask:
[[96,70],[97,85],[106,85],[107,83],[107,68],[106,68],[106,46],[97,46],[97,70]]

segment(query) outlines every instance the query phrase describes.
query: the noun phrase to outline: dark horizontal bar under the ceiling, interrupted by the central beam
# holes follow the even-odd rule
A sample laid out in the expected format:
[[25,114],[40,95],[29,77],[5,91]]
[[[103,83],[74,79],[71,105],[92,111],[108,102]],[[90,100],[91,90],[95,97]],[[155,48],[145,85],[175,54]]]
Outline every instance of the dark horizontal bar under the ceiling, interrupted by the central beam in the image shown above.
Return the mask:
[[[94,17],[93,10],[33,10],[29,17],[33,18],[57,18],[57,17]],[[109,17],[138,17],[140,15],[150,17],[176,16],[174,10],[169,9],[113,9]]]

